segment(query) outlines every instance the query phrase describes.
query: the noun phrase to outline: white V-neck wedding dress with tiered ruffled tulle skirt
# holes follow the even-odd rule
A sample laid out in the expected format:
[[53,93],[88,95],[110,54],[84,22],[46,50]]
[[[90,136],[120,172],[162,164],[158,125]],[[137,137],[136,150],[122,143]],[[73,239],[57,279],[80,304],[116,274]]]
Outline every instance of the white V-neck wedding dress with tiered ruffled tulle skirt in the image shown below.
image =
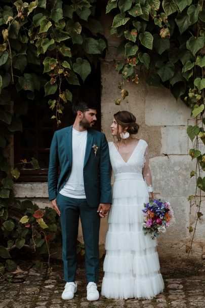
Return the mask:
[[101,294],[115,299],[152,299],[163,291],[164,284],[157,241],[142,229],[142,209],[152,191],[147,143],[140,139],[127,163],[114,143],[108,144],[115,181]]

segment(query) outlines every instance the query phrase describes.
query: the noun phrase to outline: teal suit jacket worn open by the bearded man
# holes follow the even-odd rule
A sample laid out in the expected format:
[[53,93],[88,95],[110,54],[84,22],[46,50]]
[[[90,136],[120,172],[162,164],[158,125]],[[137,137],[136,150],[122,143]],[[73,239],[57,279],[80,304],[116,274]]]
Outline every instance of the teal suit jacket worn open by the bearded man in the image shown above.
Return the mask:
[[[98,146],[96,156],[92,148],[94,144]],[[48,174],[49,200],[57,197],[70,176],[71,168],[72,126],[69,126],[56,131],[51,143]],[[111,203],[108,144],[105,135],[93,129],[88,129],[83,174],[88,204],[91,207],[98,207],[100,203]]]

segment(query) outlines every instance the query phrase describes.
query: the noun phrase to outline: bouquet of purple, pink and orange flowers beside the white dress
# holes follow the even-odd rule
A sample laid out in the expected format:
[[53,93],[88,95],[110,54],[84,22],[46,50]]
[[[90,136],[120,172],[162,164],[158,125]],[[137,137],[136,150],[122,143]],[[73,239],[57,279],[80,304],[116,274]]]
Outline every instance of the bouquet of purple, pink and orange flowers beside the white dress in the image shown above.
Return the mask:
[[165,233],[166,228],[174,221],[174,212],[169,202],[162,200],[150,200],[144,203],[144,234],[150,233],[152,239],[159,236],[159,233]]

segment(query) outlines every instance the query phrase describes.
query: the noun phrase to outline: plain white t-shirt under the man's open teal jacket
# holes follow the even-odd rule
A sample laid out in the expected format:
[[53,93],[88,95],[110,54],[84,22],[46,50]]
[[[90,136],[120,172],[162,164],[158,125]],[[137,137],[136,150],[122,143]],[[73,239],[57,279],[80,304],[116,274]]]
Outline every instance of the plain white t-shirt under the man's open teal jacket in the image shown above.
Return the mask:
[[86,199],[84,188],[84,160],[88,131],[72,129],[72,169],[70,176],[60,190],[60,194],[70,198]]

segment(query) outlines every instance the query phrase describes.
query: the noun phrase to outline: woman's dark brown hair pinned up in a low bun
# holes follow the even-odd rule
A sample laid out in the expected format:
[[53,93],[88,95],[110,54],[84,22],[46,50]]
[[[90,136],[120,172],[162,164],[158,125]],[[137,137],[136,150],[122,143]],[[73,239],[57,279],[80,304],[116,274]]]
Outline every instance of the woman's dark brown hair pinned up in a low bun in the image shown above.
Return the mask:
[[[122,131],[128,127],[127,132],[135,135],[138,132],[139,125],[136,123],[135,115],[129,111],[118,111],[114,114],[114,119],[118,125],[121,125]],[[118,136],[117,136],[118,138]]]

